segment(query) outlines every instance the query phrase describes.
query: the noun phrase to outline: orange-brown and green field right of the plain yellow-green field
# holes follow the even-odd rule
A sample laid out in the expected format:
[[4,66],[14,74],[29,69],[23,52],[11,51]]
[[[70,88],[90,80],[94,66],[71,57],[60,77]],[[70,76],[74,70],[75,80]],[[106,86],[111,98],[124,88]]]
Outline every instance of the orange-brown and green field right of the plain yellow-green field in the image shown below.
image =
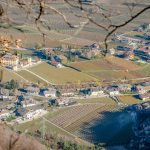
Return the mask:
[[117,57],[71,63],[70,66],[98,80],[142,78],[150,75],[150,66],[139,66]]

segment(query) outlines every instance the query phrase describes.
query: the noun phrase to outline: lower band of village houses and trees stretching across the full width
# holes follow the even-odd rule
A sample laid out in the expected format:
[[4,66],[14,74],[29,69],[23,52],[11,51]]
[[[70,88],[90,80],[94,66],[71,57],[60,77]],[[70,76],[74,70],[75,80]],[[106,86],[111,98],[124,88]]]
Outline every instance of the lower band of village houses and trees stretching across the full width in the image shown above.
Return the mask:
[[[9,85],[8,85],[9,84]],[[31,84],[18,87],[18,83],[10,81],[7,86],[1,86],[0,100],[1,121],[22,123],[39,118],[47,113],[49,107],[63,108],[71,105],[80,105],[79,99],[110,97],[117,105],[124,105],[120,96],[131,95],[137,100],[150,99],[150,82],[138,84],[114,84],[106,87],[86,87],[81,89],[63,89],[56,86],[40,88]],[[15,92],[13,92],[15,91]],[[37,100],[42,99],[41,101]],[[6,105],[9,104],[9,105]],[[3,107],[2,107],[3,106]]]

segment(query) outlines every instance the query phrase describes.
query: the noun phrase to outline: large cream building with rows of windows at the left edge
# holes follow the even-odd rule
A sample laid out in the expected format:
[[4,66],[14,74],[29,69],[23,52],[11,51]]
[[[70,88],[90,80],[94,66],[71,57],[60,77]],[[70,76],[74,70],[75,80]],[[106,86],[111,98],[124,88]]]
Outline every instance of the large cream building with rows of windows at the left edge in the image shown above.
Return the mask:
[[19,57],[11,53],[7,53],[0,58],[0,63],[3,66],[16,66],[19,63]]

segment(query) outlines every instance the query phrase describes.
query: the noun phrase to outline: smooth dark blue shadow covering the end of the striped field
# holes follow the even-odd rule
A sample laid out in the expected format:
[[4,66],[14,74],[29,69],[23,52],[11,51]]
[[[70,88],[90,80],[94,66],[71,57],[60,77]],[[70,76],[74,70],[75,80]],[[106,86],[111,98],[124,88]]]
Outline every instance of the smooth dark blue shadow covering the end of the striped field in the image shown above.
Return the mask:
[[125,110],[104,111],[97,119],[85,122],[79,136],[95,144],[126,144],[133,137],[132,123],[130,114]]

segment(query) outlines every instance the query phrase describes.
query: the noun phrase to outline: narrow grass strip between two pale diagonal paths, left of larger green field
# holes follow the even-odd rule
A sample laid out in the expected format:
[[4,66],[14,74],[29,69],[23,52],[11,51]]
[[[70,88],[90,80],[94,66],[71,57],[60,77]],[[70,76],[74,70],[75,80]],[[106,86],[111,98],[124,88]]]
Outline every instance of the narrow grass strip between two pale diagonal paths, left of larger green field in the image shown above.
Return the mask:
[[43,83],[45,84],[46,82],[43,81],[42,79],[38,78],[37,76],[31,74],[30,72],[26,70],[21,70],[17,72],[19,75],[21,75],[23,78],[26,80],[33,82],[33,83]]

